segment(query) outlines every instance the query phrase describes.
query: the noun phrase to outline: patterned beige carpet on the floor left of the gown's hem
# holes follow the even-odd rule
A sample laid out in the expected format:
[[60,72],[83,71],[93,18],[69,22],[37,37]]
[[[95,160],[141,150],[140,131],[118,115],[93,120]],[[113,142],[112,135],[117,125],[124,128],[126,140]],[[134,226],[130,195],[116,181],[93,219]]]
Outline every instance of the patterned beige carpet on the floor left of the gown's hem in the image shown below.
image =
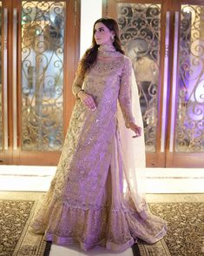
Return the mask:
[[43,256],[46,242],[29,232],[35,200],[0,200],[0,256]]

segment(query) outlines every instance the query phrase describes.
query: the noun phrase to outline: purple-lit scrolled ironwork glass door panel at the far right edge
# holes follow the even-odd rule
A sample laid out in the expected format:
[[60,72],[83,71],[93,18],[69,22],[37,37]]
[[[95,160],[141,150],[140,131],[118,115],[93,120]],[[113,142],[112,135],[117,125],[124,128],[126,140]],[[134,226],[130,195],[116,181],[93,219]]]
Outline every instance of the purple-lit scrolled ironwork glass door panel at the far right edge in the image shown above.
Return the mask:
[[204,152],[204,5],[181,5],[174,152]]

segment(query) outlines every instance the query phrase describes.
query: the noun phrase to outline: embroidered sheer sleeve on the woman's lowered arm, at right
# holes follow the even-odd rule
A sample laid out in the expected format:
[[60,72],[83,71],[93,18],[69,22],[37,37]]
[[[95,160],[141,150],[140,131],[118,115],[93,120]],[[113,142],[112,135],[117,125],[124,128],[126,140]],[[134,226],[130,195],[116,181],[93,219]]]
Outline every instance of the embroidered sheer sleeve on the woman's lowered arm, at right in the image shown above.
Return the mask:
[[122,116],[125,120],[125,125],[128,128],[128,124],[135,122],[135,118],[132,113],[132,63],[128,58],[125,58],[124,66],[122,69],[121,86],[119,91],[119,104],[122,110]]

